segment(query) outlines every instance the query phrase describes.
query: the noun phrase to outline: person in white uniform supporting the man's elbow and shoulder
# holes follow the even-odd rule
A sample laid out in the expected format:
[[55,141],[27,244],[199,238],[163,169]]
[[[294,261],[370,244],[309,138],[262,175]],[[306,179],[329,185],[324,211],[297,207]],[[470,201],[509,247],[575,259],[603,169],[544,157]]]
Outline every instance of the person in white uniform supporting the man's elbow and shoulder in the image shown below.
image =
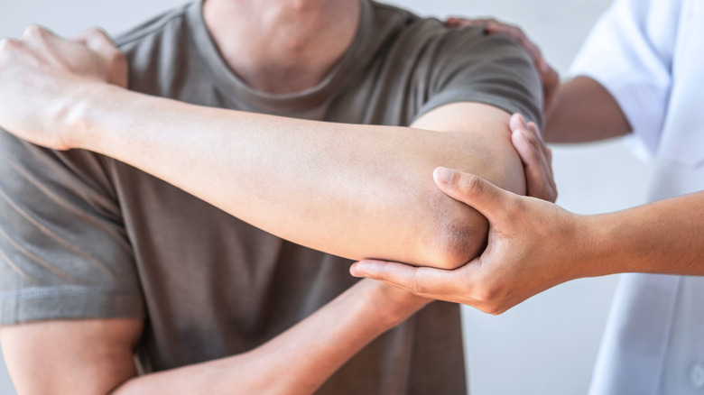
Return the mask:
[[[436,180],[442,190],[489,219],[486,252],[457,271],[384,262],[363,262],[352,271],[493,313],[567,280],[638,272],[624,276],[617,290],[590,393],[700,393],[703,21],[704,3],[698,1],[617,0],[575,60],[571,73],[578,77],[560,86],[548,116],[549,141],[628,134],[640,152],[657,159],[653,199],[659,201],[617,213],[577,216],[546,202],[516,197],[477,177],[439,170]],[[489,30],[527,42],[520,31],[489,25]],[[533,55],[544,63],[538,51],[533,49]],[[547,152],[540,144],[534,147],[533,163],[547,163]],[[535,167],[541,168],[547,167]]]

